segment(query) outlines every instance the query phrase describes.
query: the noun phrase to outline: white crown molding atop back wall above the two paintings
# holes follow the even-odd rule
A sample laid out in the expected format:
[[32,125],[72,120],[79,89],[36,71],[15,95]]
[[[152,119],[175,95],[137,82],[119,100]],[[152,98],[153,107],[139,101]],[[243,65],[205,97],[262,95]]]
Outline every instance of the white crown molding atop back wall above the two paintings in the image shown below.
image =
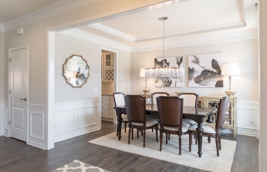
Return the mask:
[[[244,32],[237,32],[237,33],[230,33],[230,34],[202,36],[198,38],[190,38],[190,39],[182,39],[178,41],[173,41],[172,48],[203,45],[203,44],[214,44],[214,43],[230,42],[230,41],[238,41],[238,40],[248,40],[248,39],[256,39],[256,38],[258,38],[258,30],[251,30],[251,31],[244,31]],[[163,44],[161,43],[158,46],[163,47]],[[163,49],[163,48],[158,48],[158,49]],[[150,50],[155,50],[155,44],[131,46],[131,52],[150,51]]]

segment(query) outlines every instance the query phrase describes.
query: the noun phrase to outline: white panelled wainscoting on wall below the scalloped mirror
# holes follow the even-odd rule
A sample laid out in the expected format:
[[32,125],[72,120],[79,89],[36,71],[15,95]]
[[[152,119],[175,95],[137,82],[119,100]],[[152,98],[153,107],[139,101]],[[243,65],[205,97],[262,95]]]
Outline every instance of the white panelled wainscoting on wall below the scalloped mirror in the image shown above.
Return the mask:
[[100,99],[55,103],[54,109],[55,142],[101,129]]

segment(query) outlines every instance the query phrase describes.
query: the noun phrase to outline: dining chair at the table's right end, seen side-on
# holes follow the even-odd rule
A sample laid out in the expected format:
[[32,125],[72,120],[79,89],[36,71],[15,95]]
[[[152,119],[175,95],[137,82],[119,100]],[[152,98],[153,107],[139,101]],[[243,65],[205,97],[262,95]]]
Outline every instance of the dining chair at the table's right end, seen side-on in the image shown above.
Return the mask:
[[[220,103],[218,106],[218,115],[216,124],[210,123],[202,123],[203,132],[202,134],[205,136],[215,137],[216,141],[216,150],[217,156],[219,157],[219,149],[221,150],[221,128],[224,124],[224,118],[227,110],[229,97],[225,96],[220,99]],[[196,131],[197,123],[189,127],[189,152],[191,152],[191,144],[192,144],[192,133],[197,134]]]

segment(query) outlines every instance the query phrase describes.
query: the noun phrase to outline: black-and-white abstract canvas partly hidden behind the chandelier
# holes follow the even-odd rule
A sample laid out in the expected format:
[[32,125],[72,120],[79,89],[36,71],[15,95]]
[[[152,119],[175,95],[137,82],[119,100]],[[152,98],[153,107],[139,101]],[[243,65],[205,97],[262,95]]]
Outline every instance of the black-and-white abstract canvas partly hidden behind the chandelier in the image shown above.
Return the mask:
[[[183,56],[155,58],[155,67],[183,67]],[[183,87],[180,81],[155,81],[155,87]]]

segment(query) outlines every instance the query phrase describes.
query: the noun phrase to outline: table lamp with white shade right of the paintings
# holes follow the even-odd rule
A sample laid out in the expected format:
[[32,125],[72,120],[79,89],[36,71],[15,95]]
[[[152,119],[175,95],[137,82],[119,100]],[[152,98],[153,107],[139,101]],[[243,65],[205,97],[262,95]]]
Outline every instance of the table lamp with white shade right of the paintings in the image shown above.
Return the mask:
[[240,69],[239,69],[239,63],[226,63],[222,65],[222,73],[221,75],[223,76],[229,76],[229,82],[230,86],[225,93],[229,95],[230,97],[234,97],[236,91],[233,91],[231,88],[231,83],[232,83],[232,75],[240,75]]

